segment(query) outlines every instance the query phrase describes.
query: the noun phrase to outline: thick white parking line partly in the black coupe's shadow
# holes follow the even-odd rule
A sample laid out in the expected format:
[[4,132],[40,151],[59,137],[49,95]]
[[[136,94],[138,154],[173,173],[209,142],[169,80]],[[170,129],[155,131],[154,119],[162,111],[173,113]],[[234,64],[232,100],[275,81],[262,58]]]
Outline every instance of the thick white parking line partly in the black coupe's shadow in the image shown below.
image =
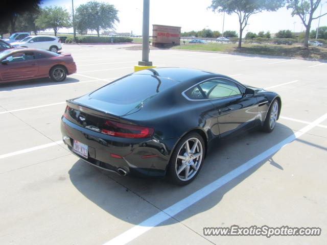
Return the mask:
[[104,245],[110,244],[126,244],[136,237],[142,235],[143,233],[149,231],[150,229],[154,228],[155,226],[159,225],[165,220],[174,217],[176,214],[180,213],[181,211],[185,210],[186,208],[190,207],[191,205],[195,204],[196,202],[200,201],[201,199],[205,198],[207,195],[211,194],[212,192],[219,189],[221,186],[225,185],[229,181],[235,179],[236,177],[240,176],[241,174],[245,173],[247,170],[255,166],[256,164],[262,162],[263,160],[270,157],[272,154],[279,151],[285,145],[291,143],[296,138],[300,137],[301,135],[305,134],[312,128],[316,127],[320,122],[327,119],[327,114],[316,119],[310,125],[304,127],[300,131],[297,131],[295,134],[287,137],[283,141],[273,145],[268,150],[264,151],[263,153],[259,154],[258,156],[252,158],[251,160],[243,163],[241,166],[235,168],[234,170],[230,171],[228,174],[224,175],[223,177],[215,180],[211,184],[206,185],[205,187],[201,188],[200,190],[194,192],[193,194],[189,195],[182,199],[181,201],[173,204],[172,206],[166,208],[158,212],[157,214],[153,215],[152,217],[144,220],[144,222],[134,226],[133,228],[125,231],[124,233],[114,237],[113,239],[109,240],[108,242],[104,243]]

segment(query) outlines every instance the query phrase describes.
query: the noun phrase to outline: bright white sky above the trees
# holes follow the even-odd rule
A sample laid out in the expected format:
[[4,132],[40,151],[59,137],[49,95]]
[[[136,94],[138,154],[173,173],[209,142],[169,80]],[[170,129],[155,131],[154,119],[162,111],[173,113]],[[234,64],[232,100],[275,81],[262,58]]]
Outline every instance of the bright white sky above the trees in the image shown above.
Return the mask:
[[[74,9],[80,4],[90,0],[74,0]],[[143,0],[100,0],[114,5],[119,10],[120,22],[116,24],[116,32],[142,35]],[[203,28],[222,32],[223,14],[214,13],[207,9],[211,0],[150,0],[150,35],[152,24],[164,24],[166,26],[181,27],[181,32],[199,31]],[[322,13],[327,12],[327,1],[323,0]],[[72,2],[67,0],[43,0],[43,6],[61,6],[72,12]],[[319,15],[320,7],[314,16]],[[286,7],[276,12],[262,12],[250,16],[249,25],[244,33],[270,31],[276,33],[279,30],[291,30],[295,32],[305,31],[300,18],[291,16],[291,10]],[[318,26],[318,19],[313,20],[311,30]],[[327,26],[327,15],[320,18],[320,27]],[[239,32],[239,21],[236,14],[225,14],[224,31],[232,30]],[[73,29],[62,29],[60,32],[73,32]]]

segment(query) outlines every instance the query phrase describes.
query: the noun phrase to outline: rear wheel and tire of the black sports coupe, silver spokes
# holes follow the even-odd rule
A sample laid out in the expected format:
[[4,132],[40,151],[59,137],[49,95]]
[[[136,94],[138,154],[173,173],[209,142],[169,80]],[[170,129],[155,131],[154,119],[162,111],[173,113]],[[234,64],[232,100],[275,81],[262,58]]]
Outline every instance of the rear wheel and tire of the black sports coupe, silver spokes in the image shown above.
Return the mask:
[[176,145],[169,161],[168,177],[176,185],[191,183],[201,170],[205,144],[201,135],[191,132]]

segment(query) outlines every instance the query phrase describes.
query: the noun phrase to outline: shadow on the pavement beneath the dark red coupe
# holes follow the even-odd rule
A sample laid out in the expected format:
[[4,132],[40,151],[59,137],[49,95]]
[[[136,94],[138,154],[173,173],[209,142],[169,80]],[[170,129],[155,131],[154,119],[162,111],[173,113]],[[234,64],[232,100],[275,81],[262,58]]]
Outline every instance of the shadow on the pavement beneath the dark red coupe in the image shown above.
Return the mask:
[[11,91],[16,89],[24,89],[24,88],[36,88],[43,86],[54,86],[58,84],[69,84],[69,83],[78,83],[80,80],[75,78],[66,78],[63,82],[53,82],[50,78],[39,78],[32,80],[24,80],[18,82],[8,82],[8,83],[0,83],[0,91]]

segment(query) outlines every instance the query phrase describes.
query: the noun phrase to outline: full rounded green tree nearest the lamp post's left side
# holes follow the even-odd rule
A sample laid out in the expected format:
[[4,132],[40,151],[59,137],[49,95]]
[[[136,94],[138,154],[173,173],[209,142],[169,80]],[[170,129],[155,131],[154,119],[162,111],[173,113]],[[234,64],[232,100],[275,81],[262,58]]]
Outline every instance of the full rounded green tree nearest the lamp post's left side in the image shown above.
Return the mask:
[[115,22],[119,22],[118,10],[113,5],[91,1],[81,4],[76,9],[76,27],[79,31],[114,30]]

